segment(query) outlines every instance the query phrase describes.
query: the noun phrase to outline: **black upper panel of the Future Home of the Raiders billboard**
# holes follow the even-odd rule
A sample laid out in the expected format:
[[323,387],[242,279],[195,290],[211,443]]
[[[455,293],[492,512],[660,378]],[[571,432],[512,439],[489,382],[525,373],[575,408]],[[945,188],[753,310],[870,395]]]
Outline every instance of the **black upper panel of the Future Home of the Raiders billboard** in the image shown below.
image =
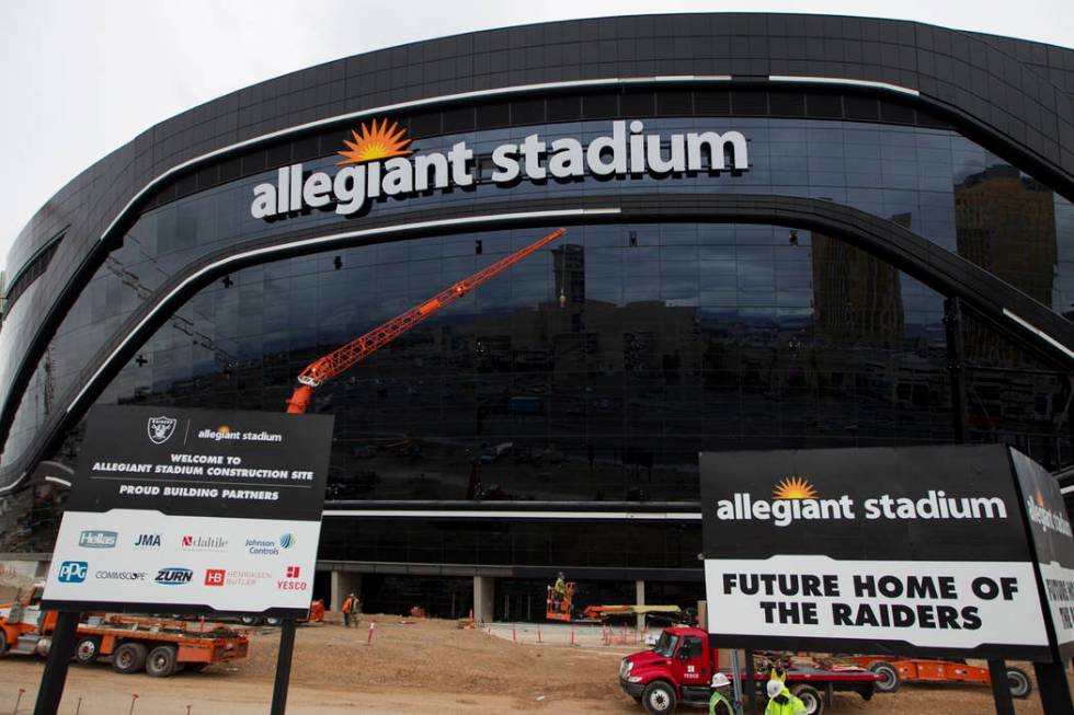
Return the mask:
[[1030,560],[1001,445],[705,452],[700,468],[706,557]]

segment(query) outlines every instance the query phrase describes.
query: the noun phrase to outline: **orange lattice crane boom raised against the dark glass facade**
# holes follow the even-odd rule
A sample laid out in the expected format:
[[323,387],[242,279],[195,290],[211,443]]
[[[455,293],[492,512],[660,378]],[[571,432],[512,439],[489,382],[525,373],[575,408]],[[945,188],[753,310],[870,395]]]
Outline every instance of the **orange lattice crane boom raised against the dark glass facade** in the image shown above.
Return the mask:
[[498,276],[527,256],[540,251],[541,247],[548,245],[564,233],[567,233],[567,229],[552,231],[539,241],[535,241],[525,249],[521,249],[510,256],[496,261],[488,268],[478,270],[469,278],[464,278],[420,305],[411,308],[405,313],[392,318],[382,325],[378,325],[362,337],[355,338],[335,351],[329,353],[317,361],[311,362],[298,376],[299,384],[295,388],[295,393],[290,396],[290,400],[287,401],[287,412],[296,415],[305,414],[306,408],[309,407],[309,401],[313,396],[315,388],[320,387],[338,374],[346,372],[355,362],[366,359],[436,311],[450,305],[481,284]]

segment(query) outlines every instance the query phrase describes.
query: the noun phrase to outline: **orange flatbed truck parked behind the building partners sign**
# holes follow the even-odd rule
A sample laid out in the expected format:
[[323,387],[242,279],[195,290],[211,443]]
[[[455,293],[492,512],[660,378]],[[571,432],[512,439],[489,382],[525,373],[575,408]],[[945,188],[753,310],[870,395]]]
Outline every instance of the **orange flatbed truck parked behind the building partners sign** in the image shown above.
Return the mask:
[[[0,656],[8,653],[48,655],[56,611],[41,610],[44,584],[37,584],[13,603],[0,606]],[[217,626],[193,630],[188,623],[157,618],[83,614],[78,625],[75,660],[89,665],[112,657],[112,669],[132,673],[145,669],[167,678],[180,669],[201,670],[214,662],[244,658],[249,639]]]

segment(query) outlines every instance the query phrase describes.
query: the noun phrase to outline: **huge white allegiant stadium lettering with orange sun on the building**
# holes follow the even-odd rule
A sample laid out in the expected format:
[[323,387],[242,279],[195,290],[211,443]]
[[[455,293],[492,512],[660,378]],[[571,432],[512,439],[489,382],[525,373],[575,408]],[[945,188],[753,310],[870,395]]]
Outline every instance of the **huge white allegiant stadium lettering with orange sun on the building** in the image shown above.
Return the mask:
[[[352,140],[339,154],[334,173],[306,172],[301,164],[283,166],[276,183],[253,187],[250,215],[273,219],[310,208],[334,210],[342,216],[357,214],[370,200],[402,198],[475,184],[475,155],[465,141],[446,152],[415,153],[411,139],[397,123],[382,119],[362,131],[352,130]],[[491,181],[513,185],[519,181],[575,181],[586,175],[666,176],[669,174],[715,174],[743,172],[750,168],[746,138],[739,131],[645,132],[640,120],[613,122],[612,131],[589,145],[572,137],[551,141],[532,134],[522,142],[507,142],[491,154]]]

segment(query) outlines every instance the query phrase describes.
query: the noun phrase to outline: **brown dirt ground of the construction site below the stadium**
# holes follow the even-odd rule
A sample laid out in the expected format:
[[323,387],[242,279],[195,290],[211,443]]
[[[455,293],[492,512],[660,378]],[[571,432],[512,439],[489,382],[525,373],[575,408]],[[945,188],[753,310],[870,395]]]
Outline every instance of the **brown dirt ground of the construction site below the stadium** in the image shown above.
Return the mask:
[[[368,623],[376,620],[373,645]],[[265,713],[272,697],[278,632],[252,634],[251,654],[233,665],[168,679],[121,676],[106,665],[71,666],[60,712],[191,715]],[[492,715],[509,712],[632,713],[641,708],[619,691],[619,658],[627,647],[579,648],[514,644],[481,631],[460,631],[454,622],[364,616],[358,628],[335,623],[298,628],[288,713]],[[33,710],[43,661],[9,656],[0,661],[0,713]],[[1030,670],[1031,672],[1031,670]],[[137,694],[138,699],[133,700]],[[1017,701],[1019,715],[1041,713],[1036,693]],[[701,713],[702,710],[684,712]],[[961,715],[992,712],[991,692],[980,687],[905,685],[866,703],[836,695],[832,715],[871,712],[892,715]]]

